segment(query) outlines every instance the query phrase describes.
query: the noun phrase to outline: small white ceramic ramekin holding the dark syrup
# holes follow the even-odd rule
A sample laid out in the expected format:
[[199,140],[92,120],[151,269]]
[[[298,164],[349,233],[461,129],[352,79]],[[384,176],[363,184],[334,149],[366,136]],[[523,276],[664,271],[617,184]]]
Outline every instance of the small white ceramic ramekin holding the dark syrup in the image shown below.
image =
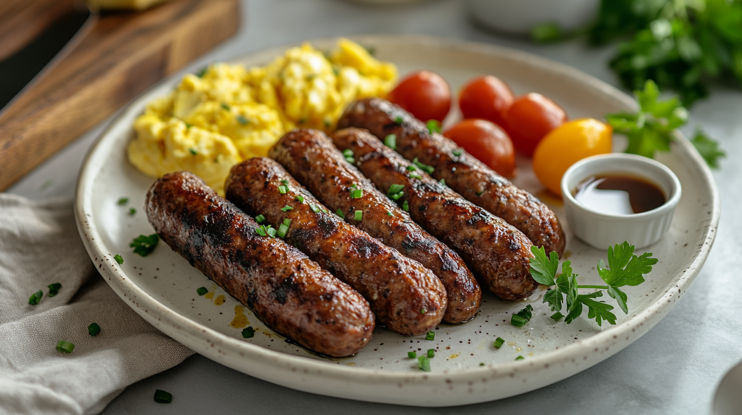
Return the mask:
[[[615,215],[602,213],[577,202],[572,195],[577,185],[591,176],[626,174],[654,183],[665,194],[664,205],[642,213]],[[644,248],[654,244],[670,228],[672,215],[680,202],[680,180],[666,165],[643,156],[625,153],[591,156],[575,163],[562,176],[562,198],[567,221],[574,235],[599,249],[624,241]]]

